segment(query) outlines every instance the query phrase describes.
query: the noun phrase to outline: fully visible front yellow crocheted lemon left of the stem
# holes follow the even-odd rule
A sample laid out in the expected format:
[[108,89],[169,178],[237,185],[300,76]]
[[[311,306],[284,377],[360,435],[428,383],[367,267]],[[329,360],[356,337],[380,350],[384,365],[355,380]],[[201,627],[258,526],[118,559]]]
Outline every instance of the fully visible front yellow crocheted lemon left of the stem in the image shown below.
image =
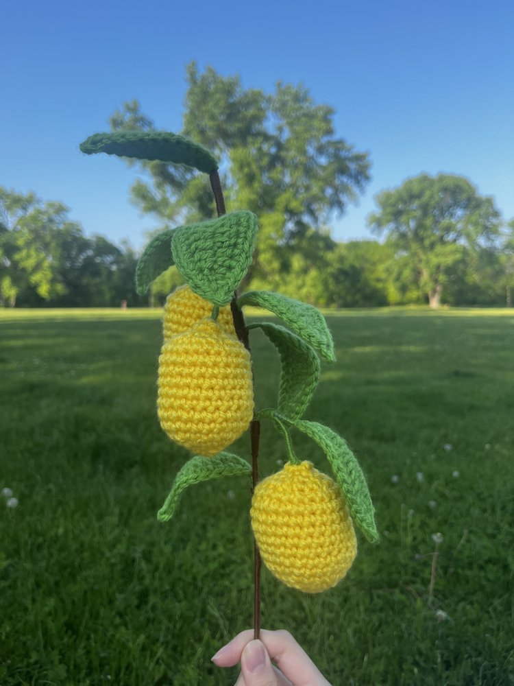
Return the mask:
[[254,413],[250,355],[210,318],[164,341],[157,408],[168,436],[210,457],[248,428]]

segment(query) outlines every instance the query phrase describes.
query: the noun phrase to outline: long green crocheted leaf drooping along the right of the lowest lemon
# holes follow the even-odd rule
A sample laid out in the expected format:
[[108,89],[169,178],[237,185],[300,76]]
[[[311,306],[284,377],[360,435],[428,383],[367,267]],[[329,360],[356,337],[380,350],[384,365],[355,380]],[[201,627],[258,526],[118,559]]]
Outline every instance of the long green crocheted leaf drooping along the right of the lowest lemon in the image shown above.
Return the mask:
[[371,543],[378,541],[375,508],[371,502],[366,477],[347,442],[335,431],[317,422],[304,419],[291,421],[280,415],[278,418],[282,423],[296,427],[317,442],[332,466],[336,481],[345,494],[350,514],[356,525],[368,541]]

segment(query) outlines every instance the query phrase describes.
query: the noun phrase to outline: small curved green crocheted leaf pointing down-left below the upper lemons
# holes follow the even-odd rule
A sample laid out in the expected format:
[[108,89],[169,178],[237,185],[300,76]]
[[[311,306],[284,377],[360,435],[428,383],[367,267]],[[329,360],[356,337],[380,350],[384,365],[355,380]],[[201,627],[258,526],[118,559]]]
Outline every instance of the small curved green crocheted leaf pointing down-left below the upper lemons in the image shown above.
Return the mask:
[[159,521],[169,521],[177,509],[184,489],[202,481],[219,479],[223,476],[249,475],[252,467],[236,455],[219,453],[214,458],[203,458],[199,455],[191,458],[176,475],[164,505],[157,513]]

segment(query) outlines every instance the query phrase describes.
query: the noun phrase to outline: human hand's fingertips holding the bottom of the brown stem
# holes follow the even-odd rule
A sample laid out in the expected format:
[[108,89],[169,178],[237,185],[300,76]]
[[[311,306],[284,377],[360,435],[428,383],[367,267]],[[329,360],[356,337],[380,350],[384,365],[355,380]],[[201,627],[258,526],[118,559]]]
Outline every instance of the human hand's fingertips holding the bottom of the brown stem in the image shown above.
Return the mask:
[[243,631],[218,650],[212,661],[218,667],[241,662],[235,686],[330,686],[289,631],[263,629],[260,641],[254,641],[253,630]]

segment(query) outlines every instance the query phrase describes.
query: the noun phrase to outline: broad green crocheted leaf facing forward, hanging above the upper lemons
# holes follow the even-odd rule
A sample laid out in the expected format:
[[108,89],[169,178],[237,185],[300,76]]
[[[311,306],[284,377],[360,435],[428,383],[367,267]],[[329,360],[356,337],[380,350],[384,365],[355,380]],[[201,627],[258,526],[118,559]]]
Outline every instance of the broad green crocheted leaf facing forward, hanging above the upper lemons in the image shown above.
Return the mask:
[[252,263],[256,231],[257,217],[246,210],[181,226],[171,241],[175,264],[197,295],[222,307]]

